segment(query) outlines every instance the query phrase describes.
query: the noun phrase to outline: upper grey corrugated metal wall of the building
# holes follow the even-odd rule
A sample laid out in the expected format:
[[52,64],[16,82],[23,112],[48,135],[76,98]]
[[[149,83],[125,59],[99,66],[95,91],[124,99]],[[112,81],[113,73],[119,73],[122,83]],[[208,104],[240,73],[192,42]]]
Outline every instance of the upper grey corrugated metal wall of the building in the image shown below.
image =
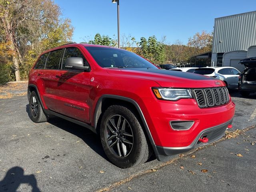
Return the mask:
[[247,50],[252,45],[256,45],[256,11],[215,19],[212,53]]

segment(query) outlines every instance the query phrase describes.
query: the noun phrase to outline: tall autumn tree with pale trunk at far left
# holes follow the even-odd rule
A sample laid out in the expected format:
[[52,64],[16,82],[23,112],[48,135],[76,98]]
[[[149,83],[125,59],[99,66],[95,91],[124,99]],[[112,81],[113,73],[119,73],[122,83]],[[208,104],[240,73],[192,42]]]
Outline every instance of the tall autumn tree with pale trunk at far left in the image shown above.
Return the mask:
[[[26,57],[71,40],[70,20],[62,20],[60,8],[52,0],[0,0],[1,42],[12,52],[10,61],[16,81]],[[34,50],[32,53],[30,50]],[[28,54],[28,55],[27,55]]]

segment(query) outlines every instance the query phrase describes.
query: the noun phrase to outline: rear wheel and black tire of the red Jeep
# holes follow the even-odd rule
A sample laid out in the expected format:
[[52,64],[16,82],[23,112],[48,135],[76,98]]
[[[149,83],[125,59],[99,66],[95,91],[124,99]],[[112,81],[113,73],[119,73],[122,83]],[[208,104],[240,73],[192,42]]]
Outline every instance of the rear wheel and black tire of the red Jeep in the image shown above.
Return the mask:
[[36,92],[32,91],[29,98],[29,117],[35,123],[46,122],[48,117],[44,114]]

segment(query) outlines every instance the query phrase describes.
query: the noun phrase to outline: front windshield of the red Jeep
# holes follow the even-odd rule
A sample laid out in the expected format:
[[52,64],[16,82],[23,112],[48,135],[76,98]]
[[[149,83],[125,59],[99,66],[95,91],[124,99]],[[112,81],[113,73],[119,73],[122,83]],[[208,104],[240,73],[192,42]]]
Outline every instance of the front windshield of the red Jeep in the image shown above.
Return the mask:
[[101,67],[155,68],[154,64],[135,53],[108,47],[85,47]]

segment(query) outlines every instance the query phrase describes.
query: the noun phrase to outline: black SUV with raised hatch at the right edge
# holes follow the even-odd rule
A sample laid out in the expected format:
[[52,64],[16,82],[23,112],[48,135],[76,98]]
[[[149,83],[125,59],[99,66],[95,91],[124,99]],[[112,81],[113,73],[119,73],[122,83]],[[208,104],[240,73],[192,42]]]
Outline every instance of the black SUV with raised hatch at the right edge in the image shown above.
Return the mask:
[[256,57],[240,60],[240,64],[246,69],[239,76],[238,90],[242,96],[248,96],[256,92]]

